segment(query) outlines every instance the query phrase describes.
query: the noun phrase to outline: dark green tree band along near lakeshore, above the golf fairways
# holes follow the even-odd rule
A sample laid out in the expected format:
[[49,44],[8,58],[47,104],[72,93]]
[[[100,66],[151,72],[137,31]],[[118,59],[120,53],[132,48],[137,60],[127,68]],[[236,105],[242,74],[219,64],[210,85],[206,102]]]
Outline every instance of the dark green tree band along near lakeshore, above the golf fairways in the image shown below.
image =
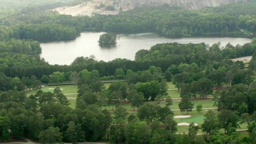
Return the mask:
[[[13,40],[13,42],[16,42]],[[18,42],[18,41],[17,41]],[[9,43],[10,44],[10,43]],[[12,44],[12,43],[11,43]],[[13,43],[15,46],[9,46],[10,48],[18,48],[22,46],[22,43]],[[26,42],[26,46],[30,42]],[[37,43],[38,44],[38,43]],[[38,45],[35,46],[38,46]],[[28,47],[24,46],[24,50]],[[32,47],[32,42],[30,44]],[[199,68],[209,70],[217,70],[219,67],[228,68],[233,64],[231,58],[239,56],[249,56],[255,51],[255,40],[251,43],[244,44],[243,46],[232,46],[227,44],[226,48],[220,48],[219,44],[213,44],[208,46],[207,44],[178,44],[178,43],[166,43],[156,44],[152,46],[150,50],[139,50],[136,52],[135,60],[127,60],[117,58],[115,60],[104,62],[97,61],[92,55],[90,57],[78,57],[70,66],[67,65],[49,65],[44,59],[36,55],[26,55],[13,52],[1,53],[2,66],[0,70],[8,77],[22,76],[30,77],[35,75],[38,79],[41,79],[43,75],[49,76],[53,72],[80,72],[84,69],[92,71],[98,70],[102,79],[111,79],[110,76],[114,76],[115,70],[122,68],[124,72],[132,70],[133,72],[148,70],[150,66],[157,66],[161,68],[162,72],[165,72],[168,67],[174,68],[172,65],[179,66],[180,64],[196,64]],[[5,49],[6,51],[12,51]],[[38,52],[40,48],[35,47]],[[23,50],[18,49],[18,52]],[[35,52],[30,52],[35,53]],[[240,68],[245,65],[243,62],[235,62]],[[184,65],[185,66],[185,65]],[[250,67],[255,69],[255,61],[250,62]],[[172,70],[172,74],[179,74],[183,71],[179,69]],[[105,77],[104,77],[105,76]],[[113,78],[113,77],[112,77]]]

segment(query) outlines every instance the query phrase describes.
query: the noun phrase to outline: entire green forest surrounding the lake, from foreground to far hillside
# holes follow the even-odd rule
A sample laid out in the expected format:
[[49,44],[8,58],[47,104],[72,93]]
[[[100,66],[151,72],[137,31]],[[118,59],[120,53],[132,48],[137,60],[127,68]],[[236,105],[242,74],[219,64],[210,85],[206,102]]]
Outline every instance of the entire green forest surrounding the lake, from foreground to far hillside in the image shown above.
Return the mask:
[[[82,0],[83,1],[83,0]],[[73,1],[82,2],[81,0]],[[72,64],[50,65],[38,39],[76,38],[85,29],[115,32],[153,30],[182,34],[254,34],[255,3],[230,4],[202,10],[169,6],[135,8],[118,15],[68,16],[45,11],[60,6],[42,1],[0,10],[0,138],[31,138],[41,143],[110,141],[128,144],[254,144],[256,142],[256,39],[244,45],[164,43],[136,52],[135,60],[104,62],[78,57]],[[62,2],[70,2],[62,0]],[[69,3],[72,4],[72,3]],[[20,6],[20,7],[19,7]],[[40,8],[41,6],[41,8]],[[36,9],[38,8],[38,9]],[[234,13],[234,11],[236,11]],[[230,58],[252,56],[248,63]],[[102,81],[115,80],[106,88]],[[166,81],[180,92],[180,111],[190,112],[191,99],[213,96],[220,113],[209,110],[204,123],[190,123],[188,134],[176,134]],[[43,92],[42,84],[73,82],[76,108],[60,88]],[[26,95],[25,90],[36,90]],[[166,101],[165,106],[148,101]],[[137,114],[128,114],[128,103]],[[114,114],[104,107],[110,106]],[[248,124],[248,136],[236,128]],[[161,125],[162,124],[162,125]],[[196,135],[198,130],[203,135]],[[225,133],[222,133],[222,130]]]

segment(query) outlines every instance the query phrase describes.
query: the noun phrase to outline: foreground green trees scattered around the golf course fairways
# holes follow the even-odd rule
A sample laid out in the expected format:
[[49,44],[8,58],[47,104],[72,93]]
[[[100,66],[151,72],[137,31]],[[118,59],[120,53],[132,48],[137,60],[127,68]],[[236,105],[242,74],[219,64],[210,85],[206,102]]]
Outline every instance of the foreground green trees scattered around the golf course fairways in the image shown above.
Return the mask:
[[[255,91],[255,86],[247,88],[241,84],[234,84],[228,91],[214,93],[220,94],[219,99],[215,99],[218,108],[222,109],[220,114],[208,111],[205,114],[202,126],[190,123],[188,134],[176,134],[177,123],[173,118],[173,112],[168,106],[172,105],[172,100],[166,98],[166,106],[161,107],[149,103],[144,104],[143,92],[138,92],[136,84],[128,85],[126,82],[113,82],[108,89],[99,81],[96,71],[88,72],[84,70],[78,74],[78,98],[76,109],[69,108],[69,102],[62,94],[60,88],[55,88],[54,92],[42,92],[37,90],[35,95],[29,97],[24,92],[9,90],[0,92],[0,128],[1,139],[18,139],[28,137],[39,140],[42,143],[57,142],[85,142],[110,140],[119,143],[217,143],[217,142],[245,142],[254,143],[255,138],[255,112],[249,116],[247,112],[251,104],[244,101],[237,101],[242,104],[231,104],[233,107],[223,107],[222,100],[228,100],[226,93],[230,92],[230,100],[241,94]],[[80,81],[80,82],[79,82]],[[151,83],[151,82],[150,82]],[[164,82],[161,82],[164,83]],[[160,83],[160,85],[161,85]],[[252,83],[255,85],[255,82]],[[156,87],[156,86],[154,86]],[[137,91],[138,90],[138,91]],[[126,95],[126,97],[124,97]],[[182,94],[181,94],[182,95]],[[187,95],[182,96],[183,101],[190,101]],[[252,95],[253,96],[253,95]],[[161,94],[157,98],[162,98]],[[244,100],[247,98],[241,98]],[[137,116],[128,115],[121,101],[129,102],[131,107],[138,108]],[[180,102],[180,105],[183,105]],[[250,100],[252,102],[252,100]],[[252,102],[253,103],[253,102]],[[186,104],[185,104],[186,105]],[[114,106],[115,112],[112,117],[104,110],[105,106]],[[190,110],[191,108],[189,108]],[[185,110],[186,109],[182,109]],[[231,111],[233,110],[233,111]],[[236,128],[239,124],[248,123],[250,136],[239,136]],[[160,128],[164,126],[164,128]],[[206,135],[196,135],[199,129]],[[220,128],[224,128],[225,133],[219,133]],[[207,135],[210,135],[207,138]]]

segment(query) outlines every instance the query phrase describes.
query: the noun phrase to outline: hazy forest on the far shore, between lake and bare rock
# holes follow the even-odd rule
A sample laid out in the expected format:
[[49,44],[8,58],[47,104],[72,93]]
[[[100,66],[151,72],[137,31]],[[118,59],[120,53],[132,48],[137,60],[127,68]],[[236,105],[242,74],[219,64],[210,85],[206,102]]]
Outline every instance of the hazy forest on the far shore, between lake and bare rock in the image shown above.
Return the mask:
[[[60,15],[56,11],[35,10],[34,7],[7,9],[0,11],[0,25],[11,28],[20,39],[72,39],[85,29],[112,32],[152,30],[166,36],[212,33],[250,35],[256,31],[255,4],[229,4],[202,10],[163,5],[92,17]],[[235,14],[233,10],[236,10]]]

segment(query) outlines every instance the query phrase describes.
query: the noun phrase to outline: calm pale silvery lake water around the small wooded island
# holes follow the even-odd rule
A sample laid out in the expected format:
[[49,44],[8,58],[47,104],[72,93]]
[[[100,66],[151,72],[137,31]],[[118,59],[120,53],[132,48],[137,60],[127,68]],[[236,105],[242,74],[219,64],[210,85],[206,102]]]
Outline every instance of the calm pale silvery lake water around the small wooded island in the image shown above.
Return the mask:
[[245,44],[251,42],[250,38],[218,38],[218,37],[200,37],[195,38],[186,36],[183,38],[165,38],[154,33],[142,34],[120,34],[120,40],[116,46],[102,48],[98,46],[98,39],[105,32],[83,32],[74,40],[41,42],[42,54],[49,64],[71,64],[78,56],[94,55],[98,60],[110,61],[115,58],[126,58],[134,60],[135,53],[141,49],[149,50],[151,46],[166,42],[178,42],[182,44],[201,43],[212,44],[221,42],[226,46],[228,42],[236,44]]

